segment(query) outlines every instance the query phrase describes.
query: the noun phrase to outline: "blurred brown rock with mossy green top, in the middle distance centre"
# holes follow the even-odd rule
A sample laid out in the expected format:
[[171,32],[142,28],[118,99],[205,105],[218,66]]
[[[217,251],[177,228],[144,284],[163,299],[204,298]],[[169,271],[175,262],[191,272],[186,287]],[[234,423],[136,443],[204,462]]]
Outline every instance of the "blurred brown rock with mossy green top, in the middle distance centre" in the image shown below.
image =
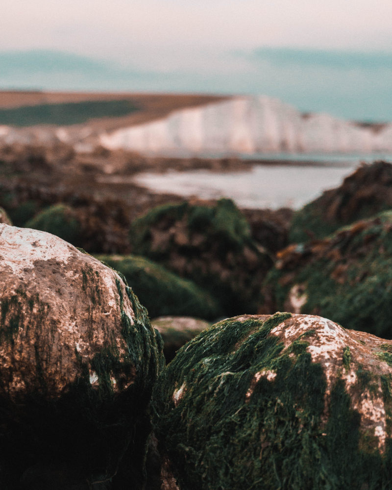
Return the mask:
[[135,220],[133,251],[193,280],[218,299],[225,315],[256,312],[270,255],[251,239],[230,199],[167,204]]

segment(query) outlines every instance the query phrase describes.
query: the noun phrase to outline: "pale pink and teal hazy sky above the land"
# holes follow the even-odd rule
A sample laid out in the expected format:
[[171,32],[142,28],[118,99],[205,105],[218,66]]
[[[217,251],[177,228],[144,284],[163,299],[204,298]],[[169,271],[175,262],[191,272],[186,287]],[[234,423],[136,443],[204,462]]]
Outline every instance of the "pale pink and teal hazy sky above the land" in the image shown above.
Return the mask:
[[[118,70],[117,85],[95,86],[31,72],[43,88],[266,93],[302,110],[392,120],[391,19],[391,0],[2,0],[0,54],[59,51]],[[386,57],[374,66],[364,53]],[[25,87],[29,74],[19,78]]]

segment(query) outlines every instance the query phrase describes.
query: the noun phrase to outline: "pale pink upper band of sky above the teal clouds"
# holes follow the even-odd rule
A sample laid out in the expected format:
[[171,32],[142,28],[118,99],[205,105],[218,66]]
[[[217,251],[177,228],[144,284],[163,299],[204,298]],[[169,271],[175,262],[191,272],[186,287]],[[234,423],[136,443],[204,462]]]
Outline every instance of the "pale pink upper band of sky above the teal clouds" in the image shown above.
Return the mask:
[[392,49],[391,0],[2,0],[0,47],[150,68],[258,47]]

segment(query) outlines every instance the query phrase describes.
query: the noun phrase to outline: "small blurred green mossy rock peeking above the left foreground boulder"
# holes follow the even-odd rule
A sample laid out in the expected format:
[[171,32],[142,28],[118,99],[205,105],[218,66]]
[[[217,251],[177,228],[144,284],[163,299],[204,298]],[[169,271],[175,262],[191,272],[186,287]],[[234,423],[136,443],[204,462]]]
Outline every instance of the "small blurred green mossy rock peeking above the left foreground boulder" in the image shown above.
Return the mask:
[[81,246],[81,226],[71,206],[53,204],[25,223],[26,228],[41,230],[56,235],[75,246]]

